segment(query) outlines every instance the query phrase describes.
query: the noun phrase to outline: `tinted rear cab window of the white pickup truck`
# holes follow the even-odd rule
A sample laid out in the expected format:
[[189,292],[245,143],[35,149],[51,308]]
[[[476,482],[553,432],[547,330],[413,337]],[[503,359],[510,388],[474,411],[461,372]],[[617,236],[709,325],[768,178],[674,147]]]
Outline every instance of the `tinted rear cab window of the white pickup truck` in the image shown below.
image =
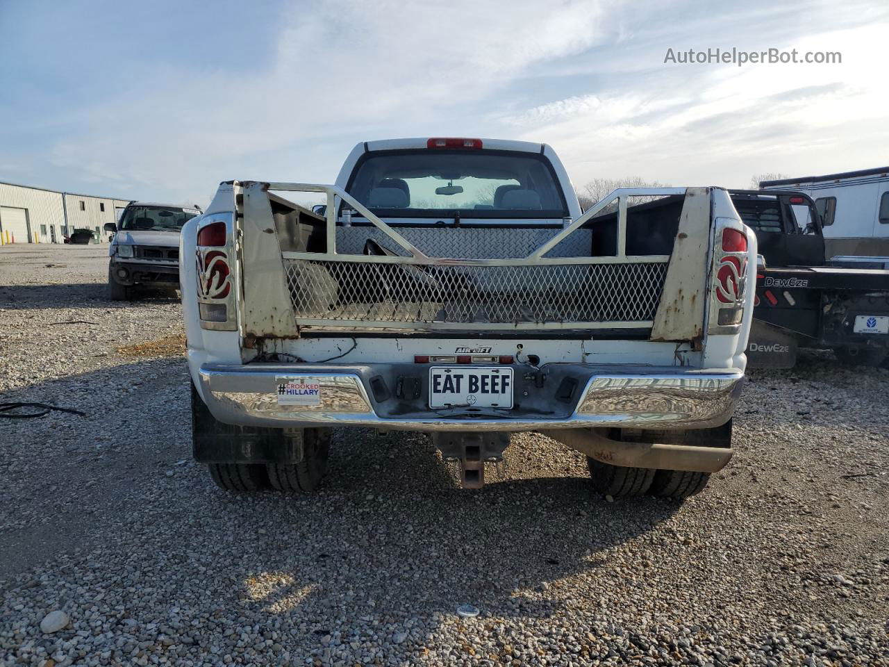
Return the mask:
[[561,224],[569,215],[549,160],[521,151],[374,151],[358,161],[346,189],[380,218],[404,221]]

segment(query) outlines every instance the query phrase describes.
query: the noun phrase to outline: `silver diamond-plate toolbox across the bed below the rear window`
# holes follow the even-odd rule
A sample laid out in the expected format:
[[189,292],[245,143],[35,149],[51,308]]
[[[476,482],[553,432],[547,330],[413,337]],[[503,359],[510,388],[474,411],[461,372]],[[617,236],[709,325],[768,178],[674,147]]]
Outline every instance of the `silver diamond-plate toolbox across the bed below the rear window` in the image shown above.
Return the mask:
[[[562,229],[397,227],[395,231],[427,257],[504,260],[527,257]],[[368,239],[403,257],[408,254],[376,227],[338,227],[337,253],[363,254]],[[591,247],[592,232],[577,229],[553,248],[547,257],[589,257]]]

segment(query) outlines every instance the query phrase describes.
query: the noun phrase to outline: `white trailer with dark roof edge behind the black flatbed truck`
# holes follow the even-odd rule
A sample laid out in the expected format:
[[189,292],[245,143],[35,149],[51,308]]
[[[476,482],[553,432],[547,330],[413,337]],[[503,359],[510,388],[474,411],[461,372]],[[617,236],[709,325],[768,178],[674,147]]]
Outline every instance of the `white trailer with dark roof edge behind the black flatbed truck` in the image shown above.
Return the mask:
[[761,181],[764,190],[798,190],[821,213],[829,258],[889,268],[889,166],[824,176]]

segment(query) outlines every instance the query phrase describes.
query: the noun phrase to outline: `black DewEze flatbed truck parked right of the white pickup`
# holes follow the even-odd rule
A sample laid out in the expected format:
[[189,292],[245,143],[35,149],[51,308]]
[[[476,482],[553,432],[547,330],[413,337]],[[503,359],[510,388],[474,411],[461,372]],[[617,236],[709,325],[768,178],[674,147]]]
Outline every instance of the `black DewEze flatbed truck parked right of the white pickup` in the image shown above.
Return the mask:
[[889,270],[826,258],[820,216],[804,193],[730,194],[741,220],[757,234],[761,257],[748,366],[790,368],[799,347],[829,348],[852,365],[885,362]]

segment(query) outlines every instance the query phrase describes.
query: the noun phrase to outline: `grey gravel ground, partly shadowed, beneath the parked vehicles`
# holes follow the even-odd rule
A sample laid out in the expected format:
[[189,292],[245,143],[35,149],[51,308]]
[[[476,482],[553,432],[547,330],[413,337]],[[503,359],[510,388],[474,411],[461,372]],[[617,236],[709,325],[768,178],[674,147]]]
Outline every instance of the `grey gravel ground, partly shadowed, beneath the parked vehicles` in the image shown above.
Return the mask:
[[0,421],[0,663],[889,664],[889,372],[753,374],[682,504],[606,502],[532,434],[464,491],[364,430],[321,493],[239,496],[190,459],[176,345],[132,348],[178,302],[107,301],[106,261],[0,249],[3,400],[87,413]]

